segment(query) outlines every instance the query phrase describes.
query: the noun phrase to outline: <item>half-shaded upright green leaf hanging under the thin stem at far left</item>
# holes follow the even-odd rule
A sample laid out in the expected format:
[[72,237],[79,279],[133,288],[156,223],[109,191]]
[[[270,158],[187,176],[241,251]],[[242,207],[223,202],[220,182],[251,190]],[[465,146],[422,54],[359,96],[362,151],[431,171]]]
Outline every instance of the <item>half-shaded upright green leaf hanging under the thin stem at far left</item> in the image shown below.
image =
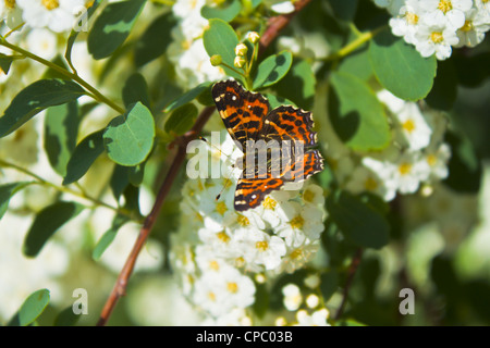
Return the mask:
[[51,107],[45,117],[45,150],[52,169],[66,175],[66,165],[76,147],[78,133],[78,103],[76,100]]

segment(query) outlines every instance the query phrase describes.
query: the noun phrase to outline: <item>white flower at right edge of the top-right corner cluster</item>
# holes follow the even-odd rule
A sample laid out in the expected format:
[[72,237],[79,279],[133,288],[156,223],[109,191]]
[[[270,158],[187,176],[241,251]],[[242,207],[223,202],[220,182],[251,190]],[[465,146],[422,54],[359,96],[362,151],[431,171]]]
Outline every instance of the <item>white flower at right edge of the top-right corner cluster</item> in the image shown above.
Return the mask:
[[460,42],[455,47],[477,46],[490,28],[490,16],[483,11],[471,9],[465,13],[465,24],[456,32]]

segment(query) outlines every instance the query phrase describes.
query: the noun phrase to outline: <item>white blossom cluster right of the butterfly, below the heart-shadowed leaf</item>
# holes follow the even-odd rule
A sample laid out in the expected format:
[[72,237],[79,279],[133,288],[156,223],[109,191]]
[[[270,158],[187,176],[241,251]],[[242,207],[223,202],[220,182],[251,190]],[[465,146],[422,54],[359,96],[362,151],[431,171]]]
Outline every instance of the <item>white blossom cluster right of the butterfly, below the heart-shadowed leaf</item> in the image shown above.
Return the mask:
[[396,194],[430,194],[432,184],[449,175],[451,149],[444,142],[448,122],[443,114],[422,111],[415,102],[388,90],[378,94],[392,126],[392,140],[380,152],[352,153],[335,134],[329,135],[327,159],[341,186],[354,194],[369,191],[391,201]]

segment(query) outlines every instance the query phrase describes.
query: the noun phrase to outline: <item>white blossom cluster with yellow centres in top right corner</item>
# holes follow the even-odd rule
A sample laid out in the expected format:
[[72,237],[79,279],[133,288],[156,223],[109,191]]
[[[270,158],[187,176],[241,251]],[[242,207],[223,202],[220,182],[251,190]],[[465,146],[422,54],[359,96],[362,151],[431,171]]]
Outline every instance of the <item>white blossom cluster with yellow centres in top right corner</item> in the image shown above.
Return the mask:
[[475,47],[490,28],[488,0],[375,0],[387,8],[392,33],[422,57],[451,57],[453,47]]

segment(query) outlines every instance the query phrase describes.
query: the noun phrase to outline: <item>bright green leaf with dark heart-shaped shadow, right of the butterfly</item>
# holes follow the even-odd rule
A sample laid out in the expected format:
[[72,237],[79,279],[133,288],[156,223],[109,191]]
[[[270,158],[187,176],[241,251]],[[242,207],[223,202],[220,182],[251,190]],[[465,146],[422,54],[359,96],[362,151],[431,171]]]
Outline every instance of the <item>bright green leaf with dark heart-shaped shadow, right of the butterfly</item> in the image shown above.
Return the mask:
[[388,117],[369,86],[347,73],[332,73],[329,116],[335,133],[353,150],[385,148],[391,140]]

